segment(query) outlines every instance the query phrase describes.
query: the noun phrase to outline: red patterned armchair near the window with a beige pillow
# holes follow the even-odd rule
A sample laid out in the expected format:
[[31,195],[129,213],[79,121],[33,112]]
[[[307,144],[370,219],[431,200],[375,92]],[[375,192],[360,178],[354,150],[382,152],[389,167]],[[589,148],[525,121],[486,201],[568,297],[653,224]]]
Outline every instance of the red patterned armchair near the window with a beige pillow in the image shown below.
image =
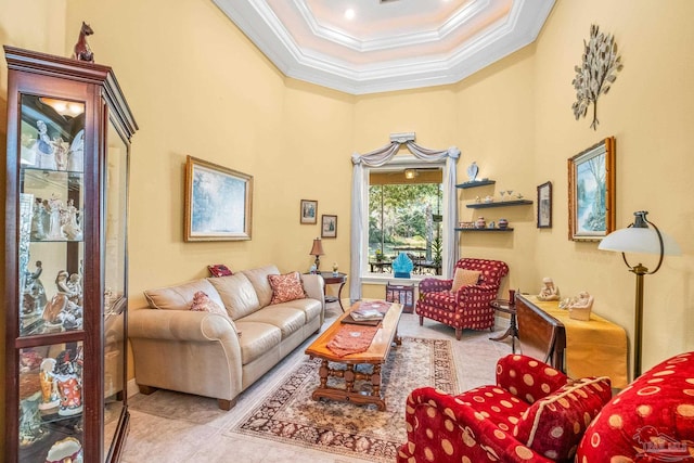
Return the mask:
[[460,259],[455,263],[458,275],[479,272],[476,284],[463,284],[451,292],[454,280],[424,279],[420,283],[420,300],[416,313],[420,325],[424,318],[436,320],[455,329],[455,339],[461,338],[463,329],[485,330],[494,325],[494,310],[489,303],[497,298],[501,279],[509,273],[509,266],[501,260]]

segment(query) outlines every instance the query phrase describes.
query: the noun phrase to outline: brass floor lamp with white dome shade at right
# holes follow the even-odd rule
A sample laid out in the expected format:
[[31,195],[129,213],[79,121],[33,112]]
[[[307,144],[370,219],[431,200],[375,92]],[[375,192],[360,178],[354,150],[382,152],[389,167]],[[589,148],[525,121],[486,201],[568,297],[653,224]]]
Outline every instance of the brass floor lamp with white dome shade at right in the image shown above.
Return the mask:
[[[677,242],[666,233],[663,233],[648,219],[647,210],[633,213],[634,221],[626,229],[617,230],[605,236],[599,249],[616,250],[621,253],[629,271],[637,275],[637,306],[634,313],[634,337],[633,337],[633,377],[641,376],[641,333],[643,329],[643,276],[658,271],[663,263],[663,256],[679,256],[682,254]],[[651,226],[651,227],[648,227]],[[641,262],[635,266],[629,265],[625,253],[657,254],[658,265],[654,270],[648,271]]]

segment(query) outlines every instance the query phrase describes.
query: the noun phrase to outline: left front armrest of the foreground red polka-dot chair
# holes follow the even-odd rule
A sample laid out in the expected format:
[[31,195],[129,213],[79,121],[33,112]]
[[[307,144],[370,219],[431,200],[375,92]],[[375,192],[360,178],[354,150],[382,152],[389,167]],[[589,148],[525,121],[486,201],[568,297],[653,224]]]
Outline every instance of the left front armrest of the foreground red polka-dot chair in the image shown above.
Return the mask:
[[410,394],[406,422],[408,441],[398,451],[399,463],[552,461],[518,442],[510,432],[501,429],[455,396],[433,387],[414,389]]

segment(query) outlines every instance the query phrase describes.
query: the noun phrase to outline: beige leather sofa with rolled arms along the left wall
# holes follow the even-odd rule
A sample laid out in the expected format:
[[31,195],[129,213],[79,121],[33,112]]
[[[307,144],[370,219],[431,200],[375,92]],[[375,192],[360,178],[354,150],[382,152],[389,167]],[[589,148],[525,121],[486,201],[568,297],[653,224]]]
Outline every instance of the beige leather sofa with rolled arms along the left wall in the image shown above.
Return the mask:
[[[279,273],[267,266],[145,291],[150,306],[128,314],[140,391],[214,397],[220,409],[230,410],[239,394],[323,324],[323,279],[303,274],[308,297],[270,305],[268,275]],[[198,291],[229,317],[190,310]]]

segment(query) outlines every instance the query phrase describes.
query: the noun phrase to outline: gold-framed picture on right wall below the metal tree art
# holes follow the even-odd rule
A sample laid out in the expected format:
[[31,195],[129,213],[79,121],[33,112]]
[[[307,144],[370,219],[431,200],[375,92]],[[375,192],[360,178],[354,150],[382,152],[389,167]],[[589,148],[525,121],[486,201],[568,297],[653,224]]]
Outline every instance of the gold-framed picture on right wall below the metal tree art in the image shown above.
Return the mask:
[[600,241],[615,230],[615,138],[568,159],[568,239]]

